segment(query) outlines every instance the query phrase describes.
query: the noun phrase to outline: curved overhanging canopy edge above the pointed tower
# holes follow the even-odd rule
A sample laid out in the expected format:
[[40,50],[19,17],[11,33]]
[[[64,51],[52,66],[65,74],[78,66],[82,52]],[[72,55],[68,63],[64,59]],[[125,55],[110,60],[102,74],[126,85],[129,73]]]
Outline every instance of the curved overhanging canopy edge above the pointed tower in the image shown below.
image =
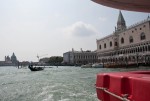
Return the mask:
[[150,12],[150,0],[92,0],[98,4],[121,10]]

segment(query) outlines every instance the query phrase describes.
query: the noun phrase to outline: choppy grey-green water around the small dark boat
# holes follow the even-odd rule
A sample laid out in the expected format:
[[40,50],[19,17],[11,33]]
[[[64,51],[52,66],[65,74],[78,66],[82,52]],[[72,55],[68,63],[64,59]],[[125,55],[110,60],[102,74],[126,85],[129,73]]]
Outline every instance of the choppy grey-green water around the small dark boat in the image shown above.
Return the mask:
[[97,73],[131,70],[137,69],[53,67],[31,72],[0,67],[0,101],[98,101]]

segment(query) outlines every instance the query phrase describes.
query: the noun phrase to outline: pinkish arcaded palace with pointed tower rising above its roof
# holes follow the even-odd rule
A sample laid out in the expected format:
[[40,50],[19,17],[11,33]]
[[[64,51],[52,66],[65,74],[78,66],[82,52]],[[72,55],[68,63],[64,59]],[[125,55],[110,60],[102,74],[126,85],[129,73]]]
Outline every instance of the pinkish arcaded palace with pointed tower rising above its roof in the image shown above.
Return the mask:
[[150,17],[129,27],[119,12],[115,31],[97,41],[98,62],[149,63]]

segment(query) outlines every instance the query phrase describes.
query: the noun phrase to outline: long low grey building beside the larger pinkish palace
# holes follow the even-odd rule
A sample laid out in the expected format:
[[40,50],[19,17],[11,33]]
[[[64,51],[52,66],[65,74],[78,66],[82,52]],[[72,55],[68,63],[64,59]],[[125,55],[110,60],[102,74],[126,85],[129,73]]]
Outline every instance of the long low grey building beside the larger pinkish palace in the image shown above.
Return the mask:
[[96,51],[72,51],[66,52],[63,54],[63,62],[65,64],[88,64],[88,63],[96,63],[97,62],[97,53]]

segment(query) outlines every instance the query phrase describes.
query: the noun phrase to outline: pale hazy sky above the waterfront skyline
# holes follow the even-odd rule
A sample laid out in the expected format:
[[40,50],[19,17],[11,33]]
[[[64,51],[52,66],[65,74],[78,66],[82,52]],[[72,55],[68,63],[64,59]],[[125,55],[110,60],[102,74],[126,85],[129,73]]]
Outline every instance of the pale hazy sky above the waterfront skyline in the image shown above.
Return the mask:
[[[122,10],[126,25],[148,13]],[[91,0],[0,0],[0,61],[13,52],[19,61],[96,50],[96,39],[112,34],[119,10]]]

